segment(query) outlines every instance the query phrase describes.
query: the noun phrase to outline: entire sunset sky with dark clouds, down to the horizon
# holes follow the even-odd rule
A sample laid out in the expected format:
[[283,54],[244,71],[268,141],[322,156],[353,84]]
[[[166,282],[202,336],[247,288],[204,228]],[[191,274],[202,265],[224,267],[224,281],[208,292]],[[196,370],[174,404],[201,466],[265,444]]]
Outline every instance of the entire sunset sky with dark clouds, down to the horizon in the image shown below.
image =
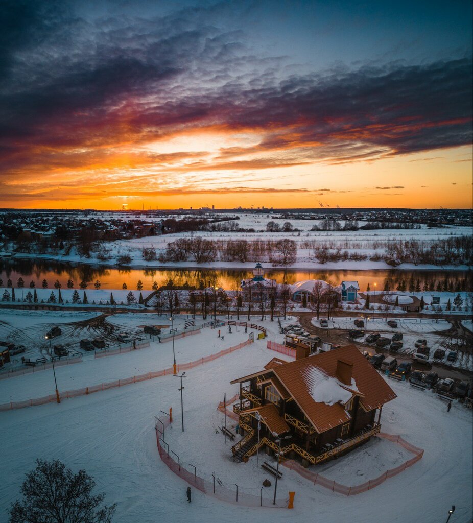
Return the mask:
[[471,2],[7,0],[0,207],[471,208]]

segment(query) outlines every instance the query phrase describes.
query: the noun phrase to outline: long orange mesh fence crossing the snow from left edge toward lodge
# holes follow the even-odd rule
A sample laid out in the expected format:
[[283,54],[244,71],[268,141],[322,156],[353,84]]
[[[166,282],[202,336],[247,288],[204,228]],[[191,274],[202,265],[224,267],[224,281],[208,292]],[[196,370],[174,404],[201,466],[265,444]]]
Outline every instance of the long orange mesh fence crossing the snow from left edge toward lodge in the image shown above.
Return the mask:
[[[226,356],[227,354],[233,353],[235,350],[239,350],[242,347],[246,347],[247,345],[250,345],[250,340],[247,339],[246,341],[239,343],[238,345],[235,345],[233,347],[229,347],[225,350],[220,350],[218,353],[211,354],[210,356],[205,356],[202,358],[199,358],[194,361],[189,361],[187,363],[178,363],[177,364],[177,372],[181,372],[183,370],[188,369],[194,369],[196,367],[199,367],[201,365],[204,365],[205,363],[208,363],[209,361],[213,361],[217,358],[221,358],[223,356]],[[131,349],[133,350],[133,349]],[[131,376],[130,378],[124,378],[121,380],[115,380],[115,381],[109,381],[108,383],[100,383],[98,385],[83,387],[81,389],[75,389],[71,391],[65,391],[59,393],[60,400],[66,400],[72,397],[77,396],[84,396],[88,394],[93,394],[94,392],[98,391],[105,391],[108,389],[114,389],[115,387],[122,387],[125,385],[130,385],[131,383],[138,383],[140,381],[145,380],[152,380],[154,378],[160,378],[161,376],[168,376],[169,374],[173,373],[173,368],[167,368],[159,371],[150,371],[145,374],[139,374],[138,376]],[[10,411],[14,410],[16,408],[24,408],[24,407],[32,407],[37,405],[44,405],[46,403],[51,403],[57,401],[55,394],[49,394],[47,396],[37,397],[30,400],[24,400],[24,401],[12,401],[9,403],[3,403],[0,405],[0,412],[3,411]]]

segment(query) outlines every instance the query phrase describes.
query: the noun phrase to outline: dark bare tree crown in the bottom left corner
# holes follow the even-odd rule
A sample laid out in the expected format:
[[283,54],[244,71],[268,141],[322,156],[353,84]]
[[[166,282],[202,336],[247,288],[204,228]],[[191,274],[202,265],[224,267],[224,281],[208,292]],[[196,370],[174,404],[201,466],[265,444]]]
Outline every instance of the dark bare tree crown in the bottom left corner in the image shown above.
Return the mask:
[[23,499],[9,509],[9,523],[110,523],[116,504],[102,505],[95,481],[85,470],[76,474],[59,460],[36,460],[21,485]]

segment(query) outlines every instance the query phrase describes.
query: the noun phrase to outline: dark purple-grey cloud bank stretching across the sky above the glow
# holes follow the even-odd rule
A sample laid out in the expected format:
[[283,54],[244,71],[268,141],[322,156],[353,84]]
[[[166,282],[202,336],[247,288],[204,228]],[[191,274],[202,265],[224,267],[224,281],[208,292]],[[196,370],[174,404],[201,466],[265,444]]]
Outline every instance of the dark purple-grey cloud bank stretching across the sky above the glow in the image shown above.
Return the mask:
[[[284,77],[280,58],[256,56],[241,32],[206,22],[212,8],[91,21],[67,5],[0,10],[3,173],[86,166],[96,149],[183,129],[263,136],[221,150],[215,169],[344,163],[471,142],[471,58]],[[249,153],[265,157],[236,159]]]

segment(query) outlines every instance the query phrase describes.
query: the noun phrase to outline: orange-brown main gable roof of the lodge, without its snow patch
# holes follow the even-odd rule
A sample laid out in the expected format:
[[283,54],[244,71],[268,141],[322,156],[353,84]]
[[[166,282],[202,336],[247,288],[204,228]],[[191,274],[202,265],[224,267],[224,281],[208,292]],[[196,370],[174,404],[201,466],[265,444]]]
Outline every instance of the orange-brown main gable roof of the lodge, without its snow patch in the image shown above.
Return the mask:
[[[346,423],[350,421],[351,417],[345,411],[344,405],[340,403],[329,405],[314,401],[305,381],[305,376],[307,376],[307,372],[311,371],[311,368],[317,368],[326,376],[335,378],[337,360],[339,359],[353,363],[352,378],[355,380],[356,389],[363,395],[359,401],[366,411],[373,410],[397,397],[386,381],[354,345],[274,367],[273,372],[318,433]],[[346,389],[350,388],[345,386]]]

